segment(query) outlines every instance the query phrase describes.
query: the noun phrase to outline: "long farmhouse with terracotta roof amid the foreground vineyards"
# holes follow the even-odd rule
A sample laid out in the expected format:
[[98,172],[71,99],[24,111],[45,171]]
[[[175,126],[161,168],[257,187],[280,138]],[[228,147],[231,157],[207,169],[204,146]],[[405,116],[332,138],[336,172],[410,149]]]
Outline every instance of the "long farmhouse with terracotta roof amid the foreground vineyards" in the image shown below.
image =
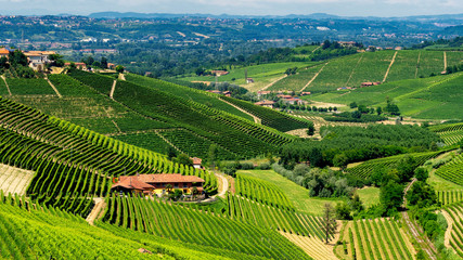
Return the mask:
[[111,190],[123,193],[162,196],[168,192],[168,184],[170,184],[172,190],[182,190],[184,194],[191,194],[193,187],[196,187],[200,194],[204,192],[203,179],[195,176],[182,176],[178,173],[123,176],[111,186]]

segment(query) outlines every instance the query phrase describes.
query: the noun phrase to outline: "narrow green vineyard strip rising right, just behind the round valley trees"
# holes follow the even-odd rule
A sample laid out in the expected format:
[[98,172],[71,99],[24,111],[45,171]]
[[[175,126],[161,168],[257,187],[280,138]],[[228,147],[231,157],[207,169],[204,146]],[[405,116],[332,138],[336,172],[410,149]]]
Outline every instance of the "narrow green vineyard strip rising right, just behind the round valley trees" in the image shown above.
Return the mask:
[[396,155],[380,159],[366,160],[360,165],[357,165],[352,168],[348,168],[346,171],[350,174],[357,176],[359,178],[369,178],[372,171],[378,167],[389,167],[396,165],[404,156],[412,156],[416,161],[416,167],[423,165],[426,160],[436,157],[441,152],[426,152],[426,153],[415,153],[407,155]]

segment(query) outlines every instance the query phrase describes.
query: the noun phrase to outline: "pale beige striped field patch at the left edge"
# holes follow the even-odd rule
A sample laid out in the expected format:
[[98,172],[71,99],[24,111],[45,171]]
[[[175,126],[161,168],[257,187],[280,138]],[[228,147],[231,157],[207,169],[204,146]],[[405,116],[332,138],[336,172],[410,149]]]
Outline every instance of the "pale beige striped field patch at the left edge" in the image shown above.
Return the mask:
[[34,171],[0,164],[0,191],[23,196],[33,177]]

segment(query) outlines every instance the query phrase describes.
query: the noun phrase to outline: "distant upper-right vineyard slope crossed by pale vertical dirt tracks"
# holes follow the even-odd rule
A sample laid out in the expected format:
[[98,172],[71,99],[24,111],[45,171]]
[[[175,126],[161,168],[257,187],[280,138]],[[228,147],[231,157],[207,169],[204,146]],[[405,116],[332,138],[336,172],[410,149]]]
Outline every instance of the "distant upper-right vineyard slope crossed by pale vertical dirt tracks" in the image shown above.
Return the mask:
[[[463,52],[447,52],[447,66],[452,66],[462,61]],[[300,91],[319,70],[318,77],[305,91],[320,93],[335,91],[342,87],[360,87],[365,81],[391,82],[428,77],[433,73],[439,75],[445,70],[443,52],[380,51],[333,58],[327,62],[326,66],[313,66],[279,81],[271,87],[271,90]]]

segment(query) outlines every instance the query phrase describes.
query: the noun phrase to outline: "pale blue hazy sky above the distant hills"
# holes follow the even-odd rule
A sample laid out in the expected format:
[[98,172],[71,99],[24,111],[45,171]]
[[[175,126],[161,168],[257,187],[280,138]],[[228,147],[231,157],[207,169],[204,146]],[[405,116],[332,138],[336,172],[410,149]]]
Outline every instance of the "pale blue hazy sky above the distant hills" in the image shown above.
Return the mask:
[[210,13],[407,16],[463,13],[463,0],[0,0],[0,14]]

